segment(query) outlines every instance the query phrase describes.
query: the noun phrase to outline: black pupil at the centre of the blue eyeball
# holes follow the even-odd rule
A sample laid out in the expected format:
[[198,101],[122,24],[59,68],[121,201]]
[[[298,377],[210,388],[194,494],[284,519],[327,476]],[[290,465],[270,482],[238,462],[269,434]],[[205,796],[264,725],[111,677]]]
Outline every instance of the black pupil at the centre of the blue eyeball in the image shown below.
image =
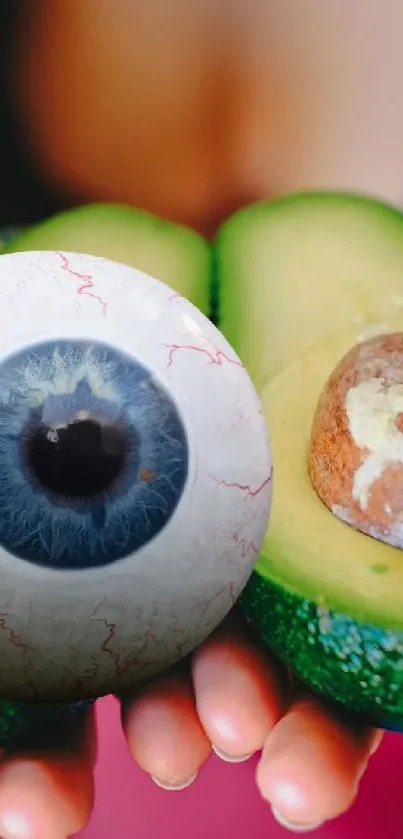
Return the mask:
[[50,492],[70,498],[110,489],[129,454],[122,428],[91,418],[75,419],[57,429],[41,423],[26,443],[25,455],[36,480]]

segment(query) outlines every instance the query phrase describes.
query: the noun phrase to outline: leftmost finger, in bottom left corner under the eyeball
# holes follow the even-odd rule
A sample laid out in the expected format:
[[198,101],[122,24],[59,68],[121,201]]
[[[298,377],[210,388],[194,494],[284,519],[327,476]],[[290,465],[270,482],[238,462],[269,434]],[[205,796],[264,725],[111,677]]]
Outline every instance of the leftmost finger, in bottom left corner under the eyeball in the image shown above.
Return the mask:
[[[52,718],[53,717],[53,718]],[[94,800],[96,756],[93,709],[27,735],[0,764],[3,839],[66,839],[85,827]]]

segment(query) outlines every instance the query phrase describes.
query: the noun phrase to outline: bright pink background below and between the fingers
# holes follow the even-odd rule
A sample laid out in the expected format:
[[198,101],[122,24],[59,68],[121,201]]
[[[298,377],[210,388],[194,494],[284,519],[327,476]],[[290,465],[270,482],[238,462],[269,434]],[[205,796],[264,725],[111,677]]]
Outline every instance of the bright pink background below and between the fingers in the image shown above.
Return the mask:
[[[254,785],[256,761],[230,766],[212,757],[195,784],[163,792],[137,769],[114,699],[99,702],[96,806],[80,839],[286,839]],[[301,835],[301,834],[300,834]],[[403,735],[387,735],[352,811],[311,834],[317,839],[402,839]]]

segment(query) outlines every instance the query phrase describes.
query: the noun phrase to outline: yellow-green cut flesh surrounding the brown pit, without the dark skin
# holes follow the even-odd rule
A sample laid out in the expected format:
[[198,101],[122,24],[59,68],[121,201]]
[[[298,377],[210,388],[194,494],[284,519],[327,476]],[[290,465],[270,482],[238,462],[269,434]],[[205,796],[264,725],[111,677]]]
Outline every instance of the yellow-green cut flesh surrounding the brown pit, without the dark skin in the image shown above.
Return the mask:
[[339,357],[337,346],[354,343],[354,332],[350,340],[343,337],[319,344],[276,376],[260,395],[271,434],[275,488],[256,569],[323,608],[345,610],[358,621],[403,632],[403,552],[336,518],[315,493],[308,475],[318,397],[329,367]]

